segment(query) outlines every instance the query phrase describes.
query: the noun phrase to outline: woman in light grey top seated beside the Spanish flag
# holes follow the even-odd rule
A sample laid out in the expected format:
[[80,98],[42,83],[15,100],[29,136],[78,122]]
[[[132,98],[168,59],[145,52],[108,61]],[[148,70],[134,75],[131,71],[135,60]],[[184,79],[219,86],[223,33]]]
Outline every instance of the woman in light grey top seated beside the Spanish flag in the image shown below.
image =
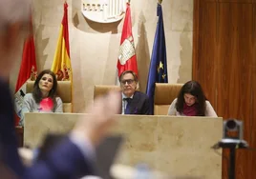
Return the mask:
[[32,93],[24,96],[20,125],[25,112],[63,112],[62,100],[56,96],[57,80],[52,70],[43,70],[37,76]]

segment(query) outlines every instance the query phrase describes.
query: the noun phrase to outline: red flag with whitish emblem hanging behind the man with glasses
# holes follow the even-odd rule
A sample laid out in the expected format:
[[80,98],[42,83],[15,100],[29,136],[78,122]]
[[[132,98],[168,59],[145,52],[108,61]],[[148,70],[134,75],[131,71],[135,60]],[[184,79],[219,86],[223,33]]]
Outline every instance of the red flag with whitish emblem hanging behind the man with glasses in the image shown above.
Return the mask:
[[127,3],[125,19],[122,28],[120,48],[117,60],[118,76],[124,70],[133,70],[138,75],[138,66],[135,53],[134,37],[132,32],[132,20],[130,4]]

